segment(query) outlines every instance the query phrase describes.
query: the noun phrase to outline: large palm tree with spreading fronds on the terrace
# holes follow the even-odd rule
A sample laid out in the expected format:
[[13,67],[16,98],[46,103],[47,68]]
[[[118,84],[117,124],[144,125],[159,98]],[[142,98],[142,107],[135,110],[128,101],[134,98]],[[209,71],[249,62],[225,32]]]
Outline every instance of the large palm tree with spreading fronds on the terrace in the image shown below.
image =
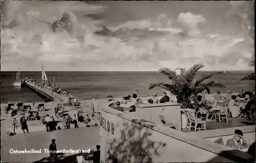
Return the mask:
[[182,104],[183,108],[188,108],[190,105],[190,99],[193,98],[198,93],[207,90],[209,94],[210,87],[226,88],[223,84],[211,80],[210,82],[204,82],[204,80],[210,78],[214,73],[209,75],[202,75],[199,79],[194,79],[196,73],[204,67],[204,64],[195,64],[188,70],[185,68],[181,69],[180,75],[176,71],[171,70],[170,68],[160,68],[159,72],[168,76],[171,83],[154,83],[150,84],[149,89],[155,87],[163,88],[170,93],[176,95],[177,102]]

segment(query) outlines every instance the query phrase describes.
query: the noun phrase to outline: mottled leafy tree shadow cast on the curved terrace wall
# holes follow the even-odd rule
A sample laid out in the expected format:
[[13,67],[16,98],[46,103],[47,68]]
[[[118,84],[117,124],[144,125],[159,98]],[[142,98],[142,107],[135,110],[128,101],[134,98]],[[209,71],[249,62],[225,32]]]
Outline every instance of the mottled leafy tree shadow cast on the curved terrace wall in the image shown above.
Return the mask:
[[[161,141],[152,141],[149,128],[133,122],[124,122],[122,125],[121,139],[115,138],[109,143],[109,151],[118,156],[118,162],[152,162],[153,155],[161,157],[158,150],[164,148],[166,144]],[[106,160],[110,157],[110,153],[106,153]]]

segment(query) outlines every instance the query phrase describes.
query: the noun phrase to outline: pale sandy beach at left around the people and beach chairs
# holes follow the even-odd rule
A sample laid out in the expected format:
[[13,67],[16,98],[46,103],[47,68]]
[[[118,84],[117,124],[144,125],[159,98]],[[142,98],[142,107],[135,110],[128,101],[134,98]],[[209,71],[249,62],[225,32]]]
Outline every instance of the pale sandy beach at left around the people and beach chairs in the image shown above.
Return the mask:
[[[100,100],[101,102],[106,100]],[[78,110],[83,111],[83,115],[92,114],[91,105],[94,103],[96,106],[97,101],[80,101],[81,108],[74,108],[74,106],[65,106],[65,115],[70,114],[73,116],[77,114]],[[30,103],[32,105],[32,102]],[[56,102],[47,102],[45,103],[45,113],[39,112],[39,116],[44,114],[49,114],[54,116],[54,107]],[[58,122],[58,126],[61,127],[61,130],[56,130],[53,132],[46,132],[45,125],[29,125],[30,133],[23,133],[19,125],[19,119],[22,115],[15,115],[18,121],[18,129],[16,130],[16,135],[11,137],[7,136],[7,130],[12,130],[12,120],[11,115],[6,115],[3,111],[7,104],[1,104],[1,155],[2,162],[45,162],[49,153],[43,151],[44,148],[48,149],[51,143],[51,139],[56,139],[57,149],[91,149],[95,150],[96,145],[100,143],[99,138],[99,126],[97,127],[86,127],[85,123],[78,122],[79,128],[74,128],[74,124],[71,124],[71,129],[64,130],[62,127],[62,122]],[[37,105],[37,103],[35,103]],[[97,108],[95,107],[95,112]],[[61,121],[61,119],[54,118],[55,121]],[[24,150],[24,149],[42,149],[40,154],[11,154],[10,149]],[[72,156],[77,153],[64,153],[60,155],[63,159],[69,156],[69,161],[74,162],[76,156]],[[92,153],[91,153],[92,154]],[[74,158],[73,158],[74,157]],[[85,155],[86,157],[86,155]]]

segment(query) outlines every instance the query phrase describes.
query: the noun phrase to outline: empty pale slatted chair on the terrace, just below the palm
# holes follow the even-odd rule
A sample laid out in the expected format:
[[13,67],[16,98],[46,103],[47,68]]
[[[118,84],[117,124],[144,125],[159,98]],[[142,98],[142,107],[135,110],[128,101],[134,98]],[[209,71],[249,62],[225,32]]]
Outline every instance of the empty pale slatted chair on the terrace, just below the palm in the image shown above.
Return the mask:
[[195,118],[195,115],[192,114],[189,111],[184,111],[186,112],[186,115],[188,115],[188,119],[190,121],[189,124],[189,132],[191,131],[192,128],[194,128],[195,131],[197,130],[206,130],[206,124],[205,121],[202,121],[201,119]]

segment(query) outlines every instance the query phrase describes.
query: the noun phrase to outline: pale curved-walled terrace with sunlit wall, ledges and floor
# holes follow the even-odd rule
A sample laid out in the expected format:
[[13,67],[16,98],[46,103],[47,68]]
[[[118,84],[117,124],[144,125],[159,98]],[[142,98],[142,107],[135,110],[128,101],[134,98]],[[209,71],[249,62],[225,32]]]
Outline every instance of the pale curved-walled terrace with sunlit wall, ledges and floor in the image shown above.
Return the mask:
[[[240,129],[244,132],[244,138],[247,143],[252,144],[255,142],[255,122],[250,119],[245,118],[227,118],[228,122],[217,122],[215,119],[211,121],[204,121],[205,123],[205,130],[200,129],[199,131],[190,131],[188,130],[186,125],[186,118],[184,118],[184,110],[189,109],[181,109],[180,105],[175,102],[167,102],[167,103],[157,103],[157,104],[150,104],[147,103],[148,98],[141,98],[143,104],[138,104],[136,106],[135,112],[129,112],[129,106],[132,105],[131,101],[127,101],[126,104],[122,103],[121,106],[124,107],[124,113],[117,111],[114,108],[115,101],[110,101],[105,104],[102,104],[102,118],[109,119],[110,117],[112,121],[116,121],[116,130],[120,130],[120,132],[130,132],[129,128],[125,129],[120,128],[121,122],[129,121],[129,126],[133,125],[142,125],[148,129],[153,135],[158,135],[152,137],[151,140],[161,140],[161,134],[167,135],[167,140],[164,141],[168,147],[166,151],[177,152],[179,151],[179,147],[177,148],[176,145],[173,145],[172,139],[179,140],[177,145],[180,143],[187,143],[189,144],[186,148],[192,150],[194,147],[200,148],[200,150],[208,151],[211,154],[215,155],[215,159],[210,159],[210,157],[198,158],[195,156],[191,156],[193,152],[185,152],[184,155],[190,155],[190,158],[184,157],[177,157],[175,158],[178,162],[184,161],[194,161],[194,162],[211,162],[211,161],[228,161],[228,162],[236,162],[236,161],[248,161],[249,159],[253,159],[253,156],[246,153],[241,152],[238,150],[232,150],[229,147],[224,145],[215,143],[220,138],[223,140],[224,144],[228,139],[233,137],[234,130]],[[118,100],[118,99],[116,99]],[[121,101],[121,99],[119,99]],[[191,110],[190,110],[191,111]],[[191,111],[193,112],[193,111]],[[194,113],[193,113],[194,114]],[[117,118],[114,118],[116,116]],[[109,117],[109,118],[108,118]],[[184,122],[185,121],[185,122]],[[132,124],[131,124],[132,122]],[[128,123],[128,122],[127,122]],[[114,123],[115,124],[115,123]],[[174,129],[175,128],[175,129]],[[147,130],[147,129],[146,129]],[[121,135],[104,135],[104,131],[101,131],[102,139],[106,140],[113,140],[122,139]],[[141,132],[141,131],[138,131]],[[157,133],[156,133],[157,132]],[[140,133],[144,134],[144,133]],[[104,141],[103,141],[104,142]],[[104,143],[101,143],[104,146]],[[114,146],[114,145],[113,145]],[[112,148],[113,148],[112,146]],[[121,145],[123,144],[121,143]],[[194,146],[194,147],[192,147]],[[120,147],[121,148],[121,147]],[[108,149],[108,148],[107,148]],[[180,149],[184,152],[184,149]],[[194,149],[199,150],[199,149]],[[168,161],[170,160],[171,152],[167,152],[168,154],[162,154],[162,157],[159,158],[157,156],[152,156],[154,161]],[[181,152],[181,151],[180,151]],[[202,152],[202,151],[201,151]],[[113,155],[118,155],[118,152],[115,150],[111,153],[116,153]],[[166,152],[164,152],[166,153]],[[202,152],[203,153],[203,152]],[[209,153],[208,153],[209,154]],[[165,156],[165,158],[164,158]],[[117,156],[118,157],[118,156]],[[228,160],[226,160],[228,159]],[[119,158],[118,158],[119,160]],[[172,160],[174,161],[174,160]]]

